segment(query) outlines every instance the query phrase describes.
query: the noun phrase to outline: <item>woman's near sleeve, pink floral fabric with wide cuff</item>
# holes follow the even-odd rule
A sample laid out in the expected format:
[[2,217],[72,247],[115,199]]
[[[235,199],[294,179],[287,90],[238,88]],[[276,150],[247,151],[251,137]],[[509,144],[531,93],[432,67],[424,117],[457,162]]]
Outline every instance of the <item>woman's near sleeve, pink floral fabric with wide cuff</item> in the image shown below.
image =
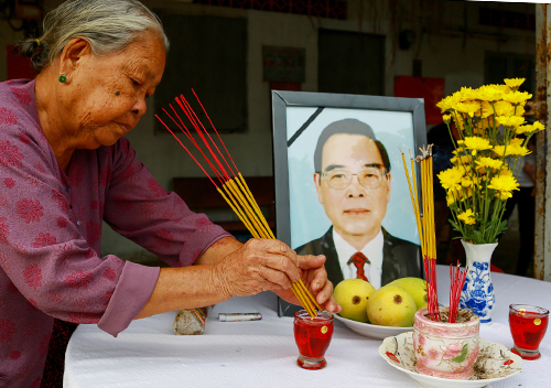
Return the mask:
[[[130,273],[128,265],[115,256],[100,258],[88,244],[89,223],[80,223],[73,208],[40,128],[32,121],[20,127],[15,120],[1,129],[0,266],[13,285],[14,298],[21,293],[34,308],[64,321],[114,321],[110,333],[116,335],[151,295],[159,269],[143,267],[140,271],[142,288],[134,290],[131,313],[104,316],[112,295],[125,293],[125,285],[121,292],[118,285]],[[24,308],[19,314],[24,314]]]

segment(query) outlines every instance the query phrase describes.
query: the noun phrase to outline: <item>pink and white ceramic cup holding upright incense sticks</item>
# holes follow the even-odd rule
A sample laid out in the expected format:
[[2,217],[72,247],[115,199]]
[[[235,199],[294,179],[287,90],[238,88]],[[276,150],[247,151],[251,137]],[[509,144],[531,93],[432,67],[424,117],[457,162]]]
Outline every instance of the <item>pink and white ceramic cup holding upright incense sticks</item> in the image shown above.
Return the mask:
[[[449,308],[440,309],[441,316],[445,316],[446,321],[447,311]],[[473,366],[479,353],[480,319],[469,311],[464,313],[467,316],[463,323],[431,321],[428,309],[415,313],[413,347],[419,374],[455,380],[473,376]]]

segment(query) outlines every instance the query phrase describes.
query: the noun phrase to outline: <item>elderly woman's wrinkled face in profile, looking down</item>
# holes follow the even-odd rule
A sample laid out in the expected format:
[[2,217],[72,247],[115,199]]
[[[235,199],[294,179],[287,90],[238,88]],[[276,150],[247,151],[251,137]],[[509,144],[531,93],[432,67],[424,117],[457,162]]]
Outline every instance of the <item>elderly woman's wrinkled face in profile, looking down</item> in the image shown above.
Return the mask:
[[163,75],[164,45],[147,33],[119,54],[83,58],[71,74],[72,100],[65,103],[72,108],[64,130],[75,148],[111,146],[145,114],[145,100]]

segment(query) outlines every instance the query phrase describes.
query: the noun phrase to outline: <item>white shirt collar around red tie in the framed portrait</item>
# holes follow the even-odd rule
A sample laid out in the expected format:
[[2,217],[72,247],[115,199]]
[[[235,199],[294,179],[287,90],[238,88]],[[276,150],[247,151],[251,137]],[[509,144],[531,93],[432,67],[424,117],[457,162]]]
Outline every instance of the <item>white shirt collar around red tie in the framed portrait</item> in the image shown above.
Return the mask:
[[[343,277],[345,279],[356,278],[356,267],[352,262],[348,263],[348,260],[350,260],[350,257],[358,250],[346,242],[335,229],[333,229],[333,241],[335,242],[335,250],[337,251],[338,263],[341,265]],[[366,272],[366,278],[375,289],[380,288],[383,242],[385,238],[382,237],[382,230],[379,230],[379,234],[360,250],[370,261],[370,263],[365,263],[364,270]]]

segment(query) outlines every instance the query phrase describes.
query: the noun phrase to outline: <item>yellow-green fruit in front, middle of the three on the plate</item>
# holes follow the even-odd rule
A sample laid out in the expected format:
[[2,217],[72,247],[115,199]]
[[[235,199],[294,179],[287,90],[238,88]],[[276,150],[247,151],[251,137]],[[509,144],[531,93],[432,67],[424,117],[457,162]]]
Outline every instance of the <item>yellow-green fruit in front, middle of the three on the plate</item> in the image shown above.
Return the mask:
[[409,327],[413,325],[417,305],[408,291],[387,284],[371,293],[366,310],[372,324]]

